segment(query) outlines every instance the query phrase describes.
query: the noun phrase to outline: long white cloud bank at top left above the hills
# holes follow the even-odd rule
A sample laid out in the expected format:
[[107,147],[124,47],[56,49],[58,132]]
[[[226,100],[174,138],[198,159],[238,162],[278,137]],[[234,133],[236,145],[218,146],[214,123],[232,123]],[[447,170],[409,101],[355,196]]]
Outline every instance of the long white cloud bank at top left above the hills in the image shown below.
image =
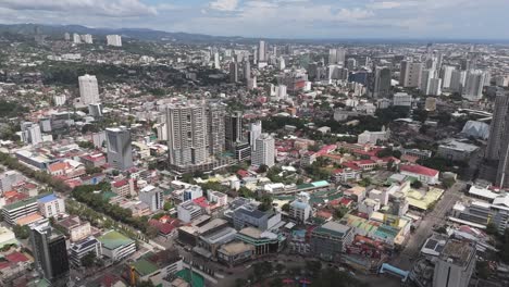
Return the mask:
[[154,7],[138,0],[0,0],[0,8],[14,11],[49,11],[91,14],[108,17],[156,15]]

